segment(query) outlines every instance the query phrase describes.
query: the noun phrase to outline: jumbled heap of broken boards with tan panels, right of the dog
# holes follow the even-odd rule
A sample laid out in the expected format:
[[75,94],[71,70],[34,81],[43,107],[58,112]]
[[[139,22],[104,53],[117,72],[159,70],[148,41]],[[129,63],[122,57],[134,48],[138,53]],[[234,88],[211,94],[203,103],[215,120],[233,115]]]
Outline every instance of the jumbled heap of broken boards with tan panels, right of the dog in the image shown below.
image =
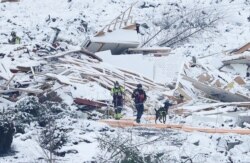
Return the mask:
[[[200,73],[194,74],[193,71]],[[194,67],[185,64],[179,81],[179,85],[184,86],[184,93],[203,100],[210,99],[210,102],[248,102],[249,90],[244,83],[240,76],[235,77],[206,64],[196,64]],[[187,84],[191,85],[185,87]],[[185,96],[183,92],[180,93]]]

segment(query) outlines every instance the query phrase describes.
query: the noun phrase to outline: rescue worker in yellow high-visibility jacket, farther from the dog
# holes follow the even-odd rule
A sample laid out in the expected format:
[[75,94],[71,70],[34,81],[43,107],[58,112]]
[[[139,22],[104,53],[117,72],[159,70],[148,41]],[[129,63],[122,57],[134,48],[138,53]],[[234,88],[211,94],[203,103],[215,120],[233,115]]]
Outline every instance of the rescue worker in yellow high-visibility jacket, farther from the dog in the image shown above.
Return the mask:
[[113,96],[113,104],[115,109],[115,119],[122,118],[122,108],[123,108],[123,96],[124,96],[124,88],[119,84],[118,81],[114,83],[114,87],[111,89],[111,95]]

